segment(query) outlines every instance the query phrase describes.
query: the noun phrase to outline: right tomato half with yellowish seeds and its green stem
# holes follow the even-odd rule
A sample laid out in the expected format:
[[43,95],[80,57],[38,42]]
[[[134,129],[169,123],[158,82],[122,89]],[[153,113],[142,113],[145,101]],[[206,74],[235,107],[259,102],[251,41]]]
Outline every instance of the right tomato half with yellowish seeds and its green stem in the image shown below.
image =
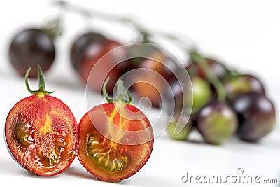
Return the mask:
[[[107,81],[104,83],[104,88]],[[118,80],[118,90],[123,81]],[[121,89],[119,89],[121,88]],[[137,173],[150,158],[153,130],[148,118],[124,94],[94,106],[79,123],[78,159],[102,181],[120,181]],[[132,97],[130,97],[132,98]]]

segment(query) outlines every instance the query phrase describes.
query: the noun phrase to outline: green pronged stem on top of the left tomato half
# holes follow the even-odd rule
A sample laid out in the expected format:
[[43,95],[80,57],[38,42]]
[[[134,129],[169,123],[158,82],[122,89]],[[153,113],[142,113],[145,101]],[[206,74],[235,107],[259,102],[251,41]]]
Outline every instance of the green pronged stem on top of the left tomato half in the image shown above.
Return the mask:
[[43,76],[43,71],[39,64],[38,64],[38,90],[31,90],[28,83],[28,75],[31,71],[31,68],[32,67],[29,67],[29,69],[27,69],[27,72],[25,74],[25,85],[27,87],[28,92],[33,95],[49,95],[55,92],[55,91],[48,92],[45,90],[45,77]]

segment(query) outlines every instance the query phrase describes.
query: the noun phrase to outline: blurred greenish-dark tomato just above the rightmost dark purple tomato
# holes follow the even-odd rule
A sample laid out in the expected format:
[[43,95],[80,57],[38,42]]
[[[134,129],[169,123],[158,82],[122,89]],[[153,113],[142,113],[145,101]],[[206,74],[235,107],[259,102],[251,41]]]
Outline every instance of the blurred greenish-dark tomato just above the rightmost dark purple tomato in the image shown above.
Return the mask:
[[257,92],[265,95],[265,88],[261,81],[255,76],[248,74],[232,78],[230,81],[226,81],[224,86],[229,98],[236,97],[246,92]]

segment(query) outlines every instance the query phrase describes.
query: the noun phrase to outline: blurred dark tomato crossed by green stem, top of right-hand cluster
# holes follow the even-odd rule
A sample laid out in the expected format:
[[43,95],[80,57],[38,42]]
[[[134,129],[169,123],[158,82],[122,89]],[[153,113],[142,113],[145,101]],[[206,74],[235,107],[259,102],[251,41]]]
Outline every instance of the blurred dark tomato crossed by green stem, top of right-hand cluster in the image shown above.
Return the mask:
[[[218,62],[216,60],[207,58],[207,64],[210,68],[210,71],[217,76],[220,80],[223,80],[227,74],[227,69],[225,68],[225,65],[221,62]],[[202,68],[195,62],[190,62],[188,66],[186,67],[188,74],[190,76],[200,76],[201,78],[207,79],[206,74],[202,70]]]

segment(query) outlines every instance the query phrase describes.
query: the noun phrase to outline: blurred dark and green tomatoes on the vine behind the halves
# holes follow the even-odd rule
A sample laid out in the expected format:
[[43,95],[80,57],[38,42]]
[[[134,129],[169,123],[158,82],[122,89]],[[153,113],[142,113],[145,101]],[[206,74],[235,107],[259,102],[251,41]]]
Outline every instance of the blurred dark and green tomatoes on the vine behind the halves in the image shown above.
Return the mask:
[[[123,44],[128,43],[109,39],[102,33],[80,34],[71,44],[69,63],[87,88],[102,93],[104,81],[110,77],[107,90],[113,94],[116,82],[122,78],[138,99],[148,97],[153,107],[161,108],[162,102],[169,104],[174,100],[167,129],[174,139],[185,140],[197,129],[210,144],[222,144],[234,134],[244,141],[255,142],[272,131],[276,121],[274,104],[257,76],[233,70],[193,49],[182,49],[190,56],[183,66],[154,45],[157,43],[152,39],[156,34],[143,30],[130,19],[117,20],[137,26],[141,41],[132,43],[151,45],[125,47]],[[50,68],[55,58],[53,33],[50,29],[30,28],[13,38],[10,62],[20,76],[36,64],[40,64],[43,71]],[[190,82],[181,81],[182,74],[190,78]],[[29,76],[35,78],[36,72],[31,71]],[[190,87],[192,94],[184,89]],[[168,89],[172,95],[166,95]]]

